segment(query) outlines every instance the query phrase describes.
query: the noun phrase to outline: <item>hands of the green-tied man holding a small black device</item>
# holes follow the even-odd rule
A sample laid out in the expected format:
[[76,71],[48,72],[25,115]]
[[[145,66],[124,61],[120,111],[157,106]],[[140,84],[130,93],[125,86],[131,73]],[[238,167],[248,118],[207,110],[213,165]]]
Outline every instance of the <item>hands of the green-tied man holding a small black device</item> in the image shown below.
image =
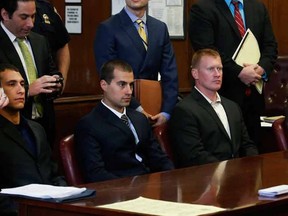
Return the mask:
[[36,79],[33,83],[29,85],[29,96],[39,95],[41,93],[53,93],[55,91],[60,91],[62,88],[61,83],[57,83],[60,77],[58,75],[44,75]]

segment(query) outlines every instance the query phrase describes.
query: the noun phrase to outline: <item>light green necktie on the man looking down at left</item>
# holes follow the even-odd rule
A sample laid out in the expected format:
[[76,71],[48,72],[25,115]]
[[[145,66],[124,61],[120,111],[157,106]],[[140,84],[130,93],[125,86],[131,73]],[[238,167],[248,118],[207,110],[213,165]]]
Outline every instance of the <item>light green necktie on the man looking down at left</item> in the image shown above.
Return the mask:
[[[31,55],[27,45],[25,44],[24,39],[17,38],[16,40],[18,42],[18,45],[20,47],[20,50],[22,52],[22,55],[23,55],[23,58],[25,61],[29,82],[32,83],[37,79],[37,71],[36,71],[36,68],[35,68],[34,63],[33,63],[32,55]],[[34,101],[35,101],[35,106],[36,106],[36,109],[38,112],[37,117],[42,117],[43,116],[43,107],[40,103],[39,96],[35,96]]]

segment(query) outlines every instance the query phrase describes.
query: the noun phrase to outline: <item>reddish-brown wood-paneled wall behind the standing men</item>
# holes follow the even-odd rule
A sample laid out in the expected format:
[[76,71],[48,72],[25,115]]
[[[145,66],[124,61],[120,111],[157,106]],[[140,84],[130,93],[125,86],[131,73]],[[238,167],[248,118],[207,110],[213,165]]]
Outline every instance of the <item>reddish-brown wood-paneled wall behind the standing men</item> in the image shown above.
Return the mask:
[[[185,2],[185,40],[172,40],[179,71],[180,92],[191,88],[190,61],[191,44],[188,39],[189,8],[196,0]],[[279,55],[288,55],[288,1],[262,0],[269,10],[275,35],[279,44]],[[51,0],[65,18],[65,0]],[[67,3],[66,3],[67,4]],[[99,23],[110,16],[110,0],[82,0],[82,34],[72,34],[70,42],[71,67],[67,79],[65,95],[101,94],[96,71],[93,42]]]

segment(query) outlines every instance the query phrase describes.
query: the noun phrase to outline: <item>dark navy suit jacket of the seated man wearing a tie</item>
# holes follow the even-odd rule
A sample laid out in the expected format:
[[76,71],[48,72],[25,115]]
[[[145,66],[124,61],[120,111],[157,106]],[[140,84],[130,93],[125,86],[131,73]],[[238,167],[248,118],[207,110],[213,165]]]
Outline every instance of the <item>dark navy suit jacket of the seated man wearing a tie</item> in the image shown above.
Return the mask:
[[[76,152],[87,182],[169,170],[172,162],[153,137],[147,118],[127,108],[139,143],[132,131],[102,103],[77,124]],[[139,162],[135,154],[143,161]]]

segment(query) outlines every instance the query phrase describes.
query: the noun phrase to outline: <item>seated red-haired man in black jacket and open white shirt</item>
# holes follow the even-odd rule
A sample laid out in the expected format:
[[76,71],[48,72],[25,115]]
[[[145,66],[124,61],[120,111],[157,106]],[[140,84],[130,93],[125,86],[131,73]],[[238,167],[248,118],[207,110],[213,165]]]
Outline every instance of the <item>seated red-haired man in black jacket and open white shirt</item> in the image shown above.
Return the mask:
[[212,49],[198,50],[191,67],[195,86],[176,105],[169,123],[176,166],[256,155],[240,107],[217,93],[223,76],[219,53]]

